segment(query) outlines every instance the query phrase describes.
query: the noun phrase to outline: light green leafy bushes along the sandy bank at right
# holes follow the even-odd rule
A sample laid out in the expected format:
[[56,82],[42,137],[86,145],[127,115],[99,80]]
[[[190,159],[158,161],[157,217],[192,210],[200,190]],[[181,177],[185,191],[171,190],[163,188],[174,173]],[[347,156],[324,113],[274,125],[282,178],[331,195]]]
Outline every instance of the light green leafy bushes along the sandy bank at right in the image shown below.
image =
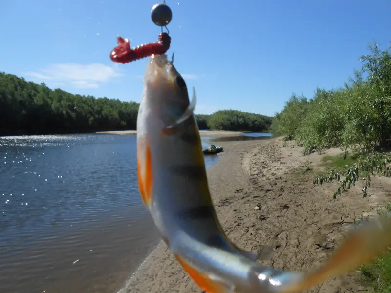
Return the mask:
[[391,54],[376,44],[344,86],[317,88],[312,98],[292,94],[272,121],[272,132],[304,146],[304,154],[330,147],[373,151],[391,143]]

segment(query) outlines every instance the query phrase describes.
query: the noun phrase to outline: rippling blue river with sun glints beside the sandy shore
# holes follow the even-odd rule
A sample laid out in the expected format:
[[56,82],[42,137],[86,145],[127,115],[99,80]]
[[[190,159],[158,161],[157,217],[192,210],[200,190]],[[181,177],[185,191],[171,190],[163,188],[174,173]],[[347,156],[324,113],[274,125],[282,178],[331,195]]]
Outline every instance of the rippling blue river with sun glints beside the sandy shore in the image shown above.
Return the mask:
[[135,135],[0,137],[0,293],[120,289],[159,240],[135,158]]

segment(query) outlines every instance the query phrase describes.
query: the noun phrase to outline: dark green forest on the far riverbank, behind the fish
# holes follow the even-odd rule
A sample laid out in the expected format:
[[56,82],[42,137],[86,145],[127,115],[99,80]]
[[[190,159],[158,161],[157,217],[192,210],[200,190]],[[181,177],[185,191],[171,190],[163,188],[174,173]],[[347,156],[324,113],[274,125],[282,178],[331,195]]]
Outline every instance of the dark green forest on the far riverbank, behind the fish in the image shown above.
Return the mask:
[[[0,135],[136,129],[139,104],[74,95],[0,72]],[[265,131],[272,118],[235,110],[195,115],[200,129]]]

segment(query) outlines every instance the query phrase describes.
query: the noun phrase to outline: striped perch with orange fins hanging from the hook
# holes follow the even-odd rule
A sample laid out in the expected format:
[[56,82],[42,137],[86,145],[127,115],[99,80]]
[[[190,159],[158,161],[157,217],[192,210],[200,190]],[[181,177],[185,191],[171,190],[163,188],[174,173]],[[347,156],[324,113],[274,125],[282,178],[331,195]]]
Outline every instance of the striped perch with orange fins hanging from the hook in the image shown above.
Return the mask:
[[[225,234],[214,208],[194,110],[185,80],[167,55],[149,58],[137,117],[141,199],[180,266],[207,293],[296,293],[349,272],[391,245],[391,220],[348,235],[320,268],[284,271],[259,262]],[[266,253],[267,254],[267,253]]]

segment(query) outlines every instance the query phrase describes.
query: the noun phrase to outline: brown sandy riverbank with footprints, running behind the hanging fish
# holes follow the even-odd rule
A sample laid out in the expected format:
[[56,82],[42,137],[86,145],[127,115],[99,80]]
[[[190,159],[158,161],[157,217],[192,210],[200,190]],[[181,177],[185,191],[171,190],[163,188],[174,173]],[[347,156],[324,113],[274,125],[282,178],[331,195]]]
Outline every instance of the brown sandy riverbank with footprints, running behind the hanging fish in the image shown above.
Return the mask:
[[[355,220],[376,214],[391,197],[391,181],[374,177],[369,197],[356,184],[337,200],[336,184],[314,186],[311,172],[321,155],[303,156],[301,148],[283,146],[281,138],[221,142],[225,152],[208,170],[217,216],[228,237],[240,248],[258,252],[272,247],[261,263],[285,270],[308,271],[326,261]],[[330,149],[326,155],[335,155]],[[257,207],[257,208],[256,208]],[[359,272],[332,278],[307,292],[337,293],[364,289]],[[201,293],[163,242],[147,257],[122,290],[126,293]]]

